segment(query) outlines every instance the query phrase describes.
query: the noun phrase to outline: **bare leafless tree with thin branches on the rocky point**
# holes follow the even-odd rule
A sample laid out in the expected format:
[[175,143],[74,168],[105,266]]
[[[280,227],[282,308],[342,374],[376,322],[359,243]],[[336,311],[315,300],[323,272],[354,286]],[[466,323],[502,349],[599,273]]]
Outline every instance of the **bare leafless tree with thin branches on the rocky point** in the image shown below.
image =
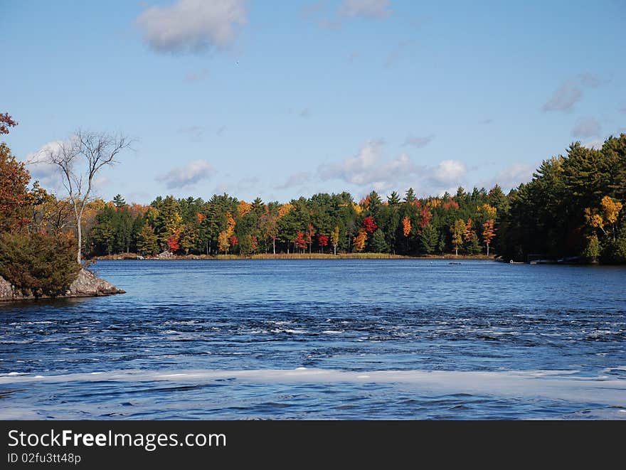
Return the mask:
[[128,149],[132,141],[122,134],[78,129],[71,139],[45,151],[44,159],[60,168],[63,186],[68,191],[76,222],[79,263],[83,243],[81,223],[93,188],[93,178],[102,166],[118,163],[116,157],[121,151]]

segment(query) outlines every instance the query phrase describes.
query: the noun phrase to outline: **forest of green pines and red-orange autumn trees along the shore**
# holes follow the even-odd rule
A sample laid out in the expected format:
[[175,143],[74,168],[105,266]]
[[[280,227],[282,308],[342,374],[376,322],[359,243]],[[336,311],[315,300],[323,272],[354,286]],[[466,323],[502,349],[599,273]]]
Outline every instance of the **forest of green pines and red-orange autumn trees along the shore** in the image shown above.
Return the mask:
[[[11,118],[3,117],[8,133]],[[29,252],[27,245],[75,249],[76,199],[31,182],[4,143],[0,175],[5,266],[0,275],[19,277],[6,266],[17,262],[16,252]],[[571,144],[508,193],[495,185],[428,197],[416,196],[413,188],[387,196],[371,191],[359,201],[346,192],[287,203],[260,197],[248,202],[226,193],[208,201],[159,196],[149,205],[129,203],[119,194],[112,201],[90,198],[80,219],[81,248],[85,258],[153,257],[165,251],[204,257],[383,253],[624,263],[625,200],[626,134],[621,134],[606,139],[601,149]],[[75,270],[68,266],[70,273]]]

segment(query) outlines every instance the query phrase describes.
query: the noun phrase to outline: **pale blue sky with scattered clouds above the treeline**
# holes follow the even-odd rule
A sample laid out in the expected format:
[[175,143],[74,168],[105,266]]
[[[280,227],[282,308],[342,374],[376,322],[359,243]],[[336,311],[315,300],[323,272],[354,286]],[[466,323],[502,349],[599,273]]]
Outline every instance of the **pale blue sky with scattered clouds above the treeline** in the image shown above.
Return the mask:
[[[626,132],[626,0],[0,0],[4,136],[132,150],[95,196],[508,191]],[[43,149],[43,151],[42,151]]]

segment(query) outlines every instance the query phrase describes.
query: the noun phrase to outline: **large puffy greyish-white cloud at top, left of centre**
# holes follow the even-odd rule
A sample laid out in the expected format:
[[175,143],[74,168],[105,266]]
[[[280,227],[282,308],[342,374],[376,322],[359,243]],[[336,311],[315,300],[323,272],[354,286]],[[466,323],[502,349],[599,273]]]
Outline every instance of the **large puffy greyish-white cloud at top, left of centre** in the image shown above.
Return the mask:
[[178,0],[152,6],[137,17],[144,41],[159,52],[226,49],[246,22],[243,0]]

